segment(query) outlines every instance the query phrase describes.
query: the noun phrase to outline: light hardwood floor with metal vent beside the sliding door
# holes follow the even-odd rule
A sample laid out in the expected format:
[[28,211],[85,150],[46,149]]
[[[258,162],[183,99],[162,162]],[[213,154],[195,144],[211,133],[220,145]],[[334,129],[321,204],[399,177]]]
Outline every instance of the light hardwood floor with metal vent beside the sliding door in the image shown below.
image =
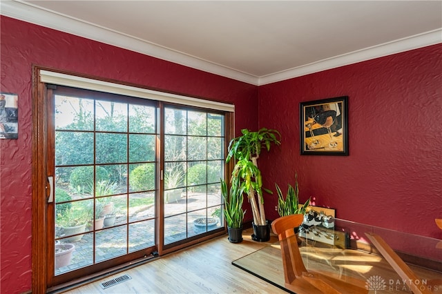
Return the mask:
[[[287,293],[231,264],[278,242],[275,236],[266,243],[254,242],[251,233],[245,230],[240,244],[223,235],[65,293]],[[132,279],[106,289],[100,286],[124,274]]]

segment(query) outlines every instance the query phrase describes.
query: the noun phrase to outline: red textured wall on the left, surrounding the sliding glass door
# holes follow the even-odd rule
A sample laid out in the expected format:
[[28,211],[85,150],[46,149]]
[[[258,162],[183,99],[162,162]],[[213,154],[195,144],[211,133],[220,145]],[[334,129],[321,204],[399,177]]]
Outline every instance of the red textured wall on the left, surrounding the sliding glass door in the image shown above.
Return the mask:
[[19,95],[19,139],[0,140],[0,293],[31,288],[32,64],[234,103],[238,129],[258,126],[256,86],[3,16],[0,57],[0,90]]

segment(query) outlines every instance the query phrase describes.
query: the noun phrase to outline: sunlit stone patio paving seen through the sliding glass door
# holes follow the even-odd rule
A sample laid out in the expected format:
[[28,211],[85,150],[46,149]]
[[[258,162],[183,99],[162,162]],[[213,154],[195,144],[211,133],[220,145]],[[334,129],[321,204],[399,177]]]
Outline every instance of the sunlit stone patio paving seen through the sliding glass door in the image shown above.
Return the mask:
[[[169,217],[164,219],[164,236],[165,244],[180,241],[186,237],[191,237],[200,233],[204,233],[206,228],[195,228],[193,220],[198,217],[206,217],[205,210],[196,210],[193,213],[184,213],[186,207],[198,209],[198,204],[202,203],[205,195],[193,195],[186,201],[185,198],[177,202],[165,204],[164,209],[168,212]],[[220,204],[220,195],[211,195],[208,206]],[[134,220],[142,220],[135,224],[125,224],[126,216],[118,216],[115,220],[114,227],[104,227],[99,231],[90,231],[85,233],[83,237],[77,242],[69,242],[75,245],[72,259],[68,266],[63,266],[55,269],[55,275],[60,275],[68,271],[73,271],[77,268],[90,266],[95,263],[103,262],[107,259],[132,253],[155,245],[155,207],[148,206],[143,210],[137,211],[136,217],[130,215],[131,222]],[[177,213],[183,213],[177,215]],[[210,213],[209,213],[210,214]],[[187,216],[187,221],[186,221]],[[210,215],[209,215],[210,217]],[[223,226],[221,219],[215,217],[218,222],[215,226],[209,227],[209,231]],[[128,229],[128,231],[127,231]],[[93,241],[95,238],[95,262],[93,252]],[[127,240],[128,239],[128,240]],[[128,242],[127,242],[128,241]],[[68,243],[61,239],[61,244]]]

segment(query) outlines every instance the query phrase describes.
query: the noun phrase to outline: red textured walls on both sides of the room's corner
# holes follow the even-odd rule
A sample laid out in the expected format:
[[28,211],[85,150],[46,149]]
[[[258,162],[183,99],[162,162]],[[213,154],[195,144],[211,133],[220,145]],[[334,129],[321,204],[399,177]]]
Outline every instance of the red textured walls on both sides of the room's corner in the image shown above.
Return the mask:
[[[258,87],[1,17],[1,91],[19,95],[19,139],[0,140],[1,293],[31,287],[31,65],[236,104],[241,128],[276,128],[282,146],[260,168],[273,188],[337,217],[441,238],[442,44]],[[300,101],[349,96],[349,157],[299,155]],[[256,104],[256,98],[259,103]],[[259,115],[258,115],[259,113]],[[258,118],[259,117],[259,120]],[[276,196],[266,199],[277,217]],[[249,210],[249,209],[248,209]],[[250,218],[249,218],[250,219]]]

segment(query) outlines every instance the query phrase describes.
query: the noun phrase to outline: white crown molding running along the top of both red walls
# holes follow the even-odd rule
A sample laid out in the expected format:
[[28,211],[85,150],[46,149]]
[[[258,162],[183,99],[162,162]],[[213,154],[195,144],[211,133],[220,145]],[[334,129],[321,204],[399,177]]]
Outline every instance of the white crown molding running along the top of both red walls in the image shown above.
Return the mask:
[[7,17],[12,17],[21,21],[34,23],[46,28],[59,30],[61,32],[67,32],[71,35],[85,37],[87,39],[92,39],[94,41],[99,41],[119,48],[139,52],[144,55],[156,57],[165,61],[171,61],[182,66],[188,66],[190,68],[210,72],[215,75],[235,79],[237,81],[243,81],[244,83],[256,86],[284,81],[286,79],[292,79],[302,75],[309,75],[314,72],[338,68],[340,66],[347,66],[352,63],[430,46],[436,43],[442,43],[442,28],[439,28],[437,30],[424,32],[419,35],[414,35],[411,37],[390,41],[388,43],[383,43],[381,45],[364,48],[362,50],[349,52],[344,55],[323,59],[304,66],[298,66],[289,70],[275,72],[270,75],[256,77],[254,75],[249,75],[246,72],[240,72],[239,70],[235,70],[227,66],[222,66],[211,61],[206,61],[198,57],[187,55],[183,52],[171,50],[155,43],[122,34],[121,32],[116,32],[109,30],[108,28],[93,25],[92,23],[80,21],[79,19],[73,19],[72,17],[68,17],[66,15],[44,10],[33,6],[30,3],[21,1],[1,1],[0,13]]

